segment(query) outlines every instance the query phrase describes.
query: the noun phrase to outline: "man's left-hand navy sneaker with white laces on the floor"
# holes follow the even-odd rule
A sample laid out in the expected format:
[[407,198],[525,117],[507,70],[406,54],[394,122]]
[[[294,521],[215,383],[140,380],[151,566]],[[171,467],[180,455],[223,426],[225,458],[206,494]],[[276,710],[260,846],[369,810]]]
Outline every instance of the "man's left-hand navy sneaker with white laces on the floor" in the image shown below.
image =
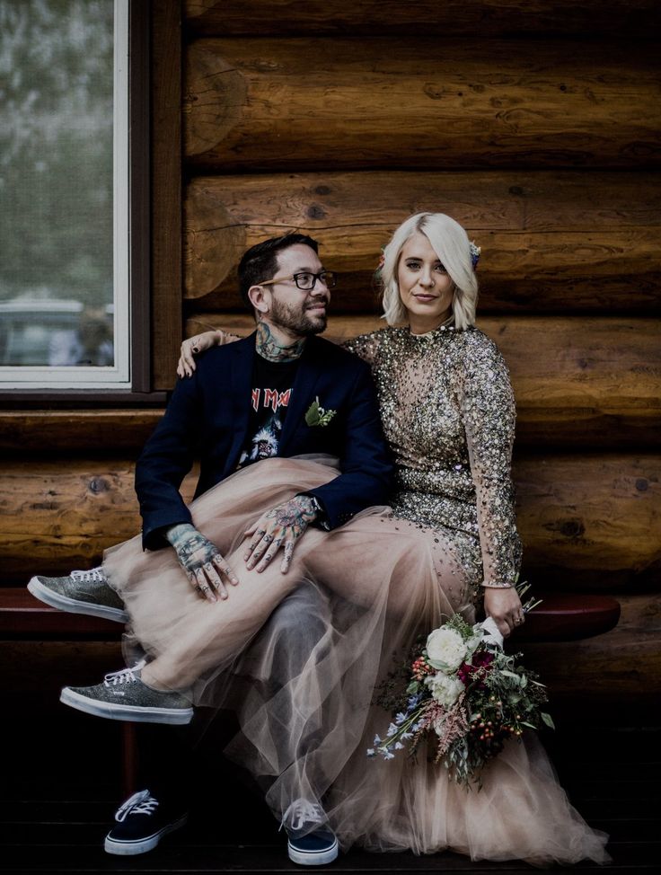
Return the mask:
[[187,814],[168,817],[159,801],[148,790],[142,790],[117,809],[117,823],[106,835],[103,847],[108,853],[145,853],[155,848],[163,835],[183,826],[187,819]]

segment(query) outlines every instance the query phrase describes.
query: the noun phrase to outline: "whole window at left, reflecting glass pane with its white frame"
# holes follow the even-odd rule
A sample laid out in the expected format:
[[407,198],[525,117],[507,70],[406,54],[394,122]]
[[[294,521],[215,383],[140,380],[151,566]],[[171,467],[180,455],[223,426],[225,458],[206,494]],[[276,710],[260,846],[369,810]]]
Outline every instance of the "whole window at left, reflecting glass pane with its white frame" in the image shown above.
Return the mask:
[[[116,229],[126,221],[113,212],[127,164],[126,140],[117,138],[126,108],[117,75],[126,41],[122,56],[117,34],[126,7],[126,0],[0,0],[5,381],[128,380],[128,292],[117,268],[128,256],[116,251]],[[125,180],[121,190],[126,198]],[[62,367],[85,370],[63,377]]]

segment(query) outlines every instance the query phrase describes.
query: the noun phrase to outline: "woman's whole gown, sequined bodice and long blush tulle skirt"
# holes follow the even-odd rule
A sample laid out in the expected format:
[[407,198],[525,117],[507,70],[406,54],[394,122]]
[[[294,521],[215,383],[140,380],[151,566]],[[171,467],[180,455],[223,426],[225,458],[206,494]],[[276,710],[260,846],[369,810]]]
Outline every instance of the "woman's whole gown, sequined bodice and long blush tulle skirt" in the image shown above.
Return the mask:
[[[211,609],[172,551],[120,545],[105,568],[132,617],[128,647],[139,641],[163,678],[194,667],[194,701],[236,710],[242,731],[226,753],[263,785],[274,814],[320,801],[345,850],[607,861],[606,836],[571,807],[532,734],[507,743],[480,791],[424,753],[417,764],[367,758],[388,725],[375,688],[393,662],[444,616],[472,621],[483,580],[516,580],[515,406],[507,367],[477,329],[388,328],[346,346],[373,368],[396,465],[391,506],[331,533],[309,529],[288,575],[253,574]],[[260,462],[197,499],[193,519],[232,555],[262,509],[335,473],[324,458]]]

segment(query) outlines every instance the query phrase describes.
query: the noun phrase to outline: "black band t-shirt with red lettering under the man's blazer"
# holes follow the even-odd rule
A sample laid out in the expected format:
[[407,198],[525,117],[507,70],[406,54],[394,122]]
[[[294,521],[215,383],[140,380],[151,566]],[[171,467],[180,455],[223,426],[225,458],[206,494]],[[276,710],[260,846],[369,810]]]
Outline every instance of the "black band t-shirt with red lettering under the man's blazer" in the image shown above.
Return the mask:
[[298,361],[267,361],[255,353],[249,437],[239,459],[240,468],[278,455]]

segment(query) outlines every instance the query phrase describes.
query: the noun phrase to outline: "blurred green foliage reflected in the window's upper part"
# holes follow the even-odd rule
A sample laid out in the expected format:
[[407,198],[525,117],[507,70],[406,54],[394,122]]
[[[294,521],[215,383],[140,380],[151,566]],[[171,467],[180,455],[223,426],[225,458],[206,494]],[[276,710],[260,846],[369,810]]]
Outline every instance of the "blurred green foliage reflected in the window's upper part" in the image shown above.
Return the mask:
[[0,0],[0,300],[112,299],[112,0]]

